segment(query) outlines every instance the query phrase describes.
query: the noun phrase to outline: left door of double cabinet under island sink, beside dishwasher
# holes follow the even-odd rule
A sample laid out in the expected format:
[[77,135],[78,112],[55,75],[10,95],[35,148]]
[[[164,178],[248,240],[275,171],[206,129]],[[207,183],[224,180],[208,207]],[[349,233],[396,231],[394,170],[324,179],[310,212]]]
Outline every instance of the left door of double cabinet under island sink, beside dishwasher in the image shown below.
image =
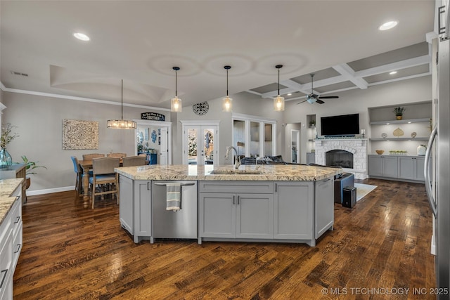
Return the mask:
[[200,193],[200,237],[236,237],[236,195]]

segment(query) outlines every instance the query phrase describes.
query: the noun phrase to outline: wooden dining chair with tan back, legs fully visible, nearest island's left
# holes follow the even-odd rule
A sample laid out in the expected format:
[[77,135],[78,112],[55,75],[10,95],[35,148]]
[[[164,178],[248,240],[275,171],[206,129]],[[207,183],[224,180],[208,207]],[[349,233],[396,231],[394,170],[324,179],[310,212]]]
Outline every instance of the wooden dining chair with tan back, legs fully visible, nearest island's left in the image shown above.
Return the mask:
[[89,185],[91,187],[93,209],[95,198],[98,195],[115,194],[116,202],[119,204],[119,174],[114,171],[114,168],[118,167],[120,167],[119,157],[98,157],[92,159],[93,175],[89,178]]

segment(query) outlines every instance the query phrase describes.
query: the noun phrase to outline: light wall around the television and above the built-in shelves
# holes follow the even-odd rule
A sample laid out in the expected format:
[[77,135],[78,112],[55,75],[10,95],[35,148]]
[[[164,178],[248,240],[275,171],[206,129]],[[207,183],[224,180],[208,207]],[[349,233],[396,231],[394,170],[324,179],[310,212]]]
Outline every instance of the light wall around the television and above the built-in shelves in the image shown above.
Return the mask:
[[[307,145],[307,115],[316,115],[316,126],[320,135],[320,118],[332,115],[348,115],[359,113],[359,127],[366,129],[367,137],[371,137],[369,126],[368,107],[378,107],[386,105],[401,105],[404,103],[423,102],[432,99],[431,77],[419,77],[404,81],[396,81],[390,84],[380,84],[369,86],[368,89],[354,89],[341,93],[335,93],[338,99],[325,99],[324,104],[309,104],[307,102],[300,105],[294,100],[286,103],[284,122],[302,123],[300,133],[301,144]],[[369,146],[370,147],[370,146]],[[301,162],[306,163],[305,147],[301,150]]]

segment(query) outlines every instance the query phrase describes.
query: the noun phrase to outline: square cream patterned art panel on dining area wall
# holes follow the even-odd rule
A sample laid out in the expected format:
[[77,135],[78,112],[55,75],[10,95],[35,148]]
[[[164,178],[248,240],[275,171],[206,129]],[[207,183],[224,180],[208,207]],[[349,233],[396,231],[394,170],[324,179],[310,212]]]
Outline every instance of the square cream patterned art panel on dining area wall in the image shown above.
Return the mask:
[[63,150],[98,149],[98,122],[63,119]]

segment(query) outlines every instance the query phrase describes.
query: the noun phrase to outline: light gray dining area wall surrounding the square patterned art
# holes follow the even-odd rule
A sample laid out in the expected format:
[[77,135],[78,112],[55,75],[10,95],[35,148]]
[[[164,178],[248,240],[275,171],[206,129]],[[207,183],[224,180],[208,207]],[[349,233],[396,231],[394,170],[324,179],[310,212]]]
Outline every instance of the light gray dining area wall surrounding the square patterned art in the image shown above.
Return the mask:
[[[108,119],[120,118],[120,105],[106,105],[61,98],[32,96],[4,92],[2,102],[6,105],[2,122],[17,126],[20,137],[8,145],[14,162],[21,162],[21,155],[46,169],[37,169],[30,176],[32,184],[27,192],[67,188],[75,185],[75,172],[70,156],[82,159],[87,153],[125,152],[134,155],[136,138],[134,130],[107,129]],[[124,119],[140,119],[141,112],[155,111],[166,116],[169,112],[124,107]],[[99,143],[97,150],[63,150],[63,119],[98,121]],[[32,193],[30,194],[32,195]]]

